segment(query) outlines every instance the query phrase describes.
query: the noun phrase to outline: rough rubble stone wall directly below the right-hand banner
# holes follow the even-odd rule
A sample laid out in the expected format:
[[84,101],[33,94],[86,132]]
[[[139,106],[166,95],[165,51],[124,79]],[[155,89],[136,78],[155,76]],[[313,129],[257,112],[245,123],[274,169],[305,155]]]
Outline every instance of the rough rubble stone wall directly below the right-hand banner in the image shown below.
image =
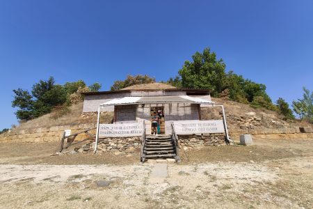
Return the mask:
[[193,134],[178,136],[179,148],[226,145],[225,134]]

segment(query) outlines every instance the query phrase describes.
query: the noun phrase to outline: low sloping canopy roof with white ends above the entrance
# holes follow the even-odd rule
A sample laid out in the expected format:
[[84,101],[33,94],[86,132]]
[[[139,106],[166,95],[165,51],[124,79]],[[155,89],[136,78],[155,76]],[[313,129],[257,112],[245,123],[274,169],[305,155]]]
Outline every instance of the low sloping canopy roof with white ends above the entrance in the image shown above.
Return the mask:
[[158,96],[158,97],[125,97],[113,99],[103,104],[100,107],[110,105],[126,105],[126,104],[154,104],[154,103],[188,103],[188,104],[215,104],[210,100],[204,100],[202,98],[192,98],[188,95],[181,96]]

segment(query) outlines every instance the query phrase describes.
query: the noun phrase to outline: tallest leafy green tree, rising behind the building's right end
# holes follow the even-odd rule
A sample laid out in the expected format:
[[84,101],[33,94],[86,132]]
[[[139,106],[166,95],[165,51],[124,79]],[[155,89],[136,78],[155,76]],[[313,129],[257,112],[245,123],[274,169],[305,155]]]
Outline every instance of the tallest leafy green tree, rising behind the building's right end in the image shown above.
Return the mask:
[[218,96],[225,89],[225,68],[223,59],[216,59],[216,54],[207,47],[202,53],[195,52],[192,61],[185,61],[178,73],[183,87],[211,88],[212,95]]

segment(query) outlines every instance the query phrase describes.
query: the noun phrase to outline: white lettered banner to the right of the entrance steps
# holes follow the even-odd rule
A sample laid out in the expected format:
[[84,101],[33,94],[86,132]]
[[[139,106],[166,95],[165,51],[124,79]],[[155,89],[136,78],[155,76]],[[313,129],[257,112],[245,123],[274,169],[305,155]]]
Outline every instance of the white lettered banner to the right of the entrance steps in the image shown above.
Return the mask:
[[213,134],[224,133],[223,120],[216,121],[173,121],[175,133],[188,134]]

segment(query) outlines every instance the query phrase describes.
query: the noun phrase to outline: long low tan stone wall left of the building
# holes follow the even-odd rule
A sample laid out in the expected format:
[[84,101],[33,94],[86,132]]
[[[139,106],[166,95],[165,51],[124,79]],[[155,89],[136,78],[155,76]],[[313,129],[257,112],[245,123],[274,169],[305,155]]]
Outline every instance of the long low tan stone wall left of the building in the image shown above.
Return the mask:
[[[40,127],[28,130],[16,130],[13,132],[6,132],[0,135],[1,142],[49,142],[61,141],[64,130],[71,130],[71,134],[81,132],[88,128],[96,127],[96,124],[80,124],[80,125],[65,125],[54,127]],[[95,130],[91,131],[95,133]],[[87,134],[79,134],[75,140],[80,141],[88,138]]]

